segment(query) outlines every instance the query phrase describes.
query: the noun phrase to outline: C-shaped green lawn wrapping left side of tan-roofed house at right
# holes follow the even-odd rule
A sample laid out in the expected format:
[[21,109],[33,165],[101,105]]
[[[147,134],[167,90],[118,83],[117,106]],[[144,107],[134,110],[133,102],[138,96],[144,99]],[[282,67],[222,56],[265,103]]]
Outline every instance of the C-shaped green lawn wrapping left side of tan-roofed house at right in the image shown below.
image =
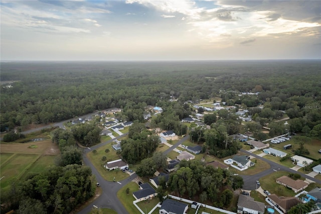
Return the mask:
[[283,175],[287,176],[289,173],[285,171],[277,171],[260,178],[259,181],[262,189],[268,190],[271,194],[275,193],[277,195],[283,195],[286,197],[294,196],[296,193],[293,190],[276,183],[276,179]]

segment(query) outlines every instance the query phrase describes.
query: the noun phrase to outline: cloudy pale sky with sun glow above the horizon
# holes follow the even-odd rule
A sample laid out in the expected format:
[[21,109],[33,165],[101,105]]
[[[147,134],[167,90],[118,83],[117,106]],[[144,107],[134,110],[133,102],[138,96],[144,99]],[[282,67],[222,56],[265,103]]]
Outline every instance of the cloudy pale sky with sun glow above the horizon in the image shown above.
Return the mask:
[[2,61],[321,59],[321,1],[3,1]]

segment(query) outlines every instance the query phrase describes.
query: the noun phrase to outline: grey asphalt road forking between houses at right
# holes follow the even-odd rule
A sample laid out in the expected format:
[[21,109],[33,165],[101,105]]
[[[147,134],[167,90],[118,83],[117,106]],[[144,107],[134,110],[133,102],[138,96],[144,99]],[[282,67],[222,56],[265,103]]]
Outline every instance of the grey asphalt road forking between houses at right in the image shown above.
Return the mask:
[[264,170],[264,171],[262,171],[262,172],[260,172],[258,174],[255,174],[255,175],[241,175],[240,174],[243,177],[243,180],[244,180],[243,189],[247,189],[247,190],[256,189],[256,181],[259,178],[264,177],[264,176],[266,176],[268,174],[271,174],[271,173],[273,173],[275,171],[287,171],[287,172],[291,172],[291,173],[297,173],[297,174],[300,174],[301,177],[307,178],[309,180],[312,180],[312,181],[314,181],[316,183],[321,184],[321,181],[318,180],[318,179],[310,177],[310,176],[308,176],[306,174],[303,174],[301,172],[297,172],[297,171],[295,171],[293,169],[287,168],[287,167],[285,167],[283,165],[280,165],[278,163],[275,163],[273,161],[267,160],[267,159],[265,159],[263,157],[260,157],[258,155],[255,155],[255,154],[251,153],[251,152],[248,152],[248,151],[246,151],[244,149],[241,149],[241,152],[243,152],[243,153],[245,153],[247,155],[252,155],[253,157],[255,157],[257,159],[263,160],[263,161],[267,162],[268,164],[270,164],[270,166],[271,166],[271,168],[269,168],[267,170]]

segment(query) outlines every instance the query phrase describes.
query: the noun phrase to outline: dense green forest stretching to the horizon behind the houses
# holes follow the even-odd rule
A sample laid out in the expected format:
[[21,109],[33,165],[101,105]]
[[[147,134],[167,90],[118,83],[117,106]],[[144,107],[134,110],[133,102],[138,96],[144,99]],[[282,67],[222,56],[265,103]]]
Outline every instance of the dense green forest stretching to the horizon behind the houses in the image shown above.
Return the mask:
[[[142,106],[167,106],[171,97],[181,106],[210,97],[228,105],[264,103],[267,110],[257,113],[257,121],[286,111],[291,119],[300,118],[293,129],[312,130],[321,120],[318,60],[7,62],[1,70],[1,131],[114,107],[124,109],[123,117],[142,122]],[[239,96],[249,91],[260,93]],[[189,113],[183,109],[179,119]]]

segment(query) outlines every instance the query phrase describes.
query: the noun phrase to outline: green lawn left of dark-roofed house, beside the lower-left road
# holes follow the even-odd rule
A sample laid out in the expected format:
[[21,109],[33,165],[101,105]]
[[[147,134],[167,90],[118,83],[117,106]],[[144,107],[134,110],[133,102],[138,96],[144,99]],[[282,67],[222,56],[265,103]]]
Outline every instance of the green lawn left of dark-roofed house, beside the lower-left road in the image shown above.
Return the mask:
[[[129,194],[126,194],[126,189],[129,188]],[[118,192],[117,197],[123,206],[127,209],[128,213],[131,214],[140,214],[138,209],[132,203],[135,198],[132,196],[132,192],[138,190],[138,184],[135,182],[129,182],[128,184],[124,185]]]

